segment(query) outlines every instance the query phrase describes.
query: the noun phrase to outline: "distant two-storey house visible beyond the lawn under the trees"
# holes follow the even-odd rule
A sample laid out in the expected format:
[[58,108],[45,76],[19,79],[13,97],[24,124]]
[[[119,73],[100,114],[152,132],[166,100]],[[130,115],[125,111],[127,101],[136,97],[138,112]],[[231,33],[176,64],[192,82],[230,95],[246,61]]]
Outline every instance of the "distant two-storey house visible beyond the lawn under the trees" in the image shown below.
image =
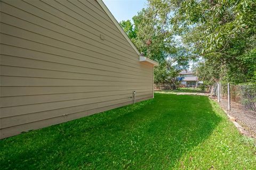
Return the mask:
[[191,71],[181,71],[178,77],[182,87],[197,87],[198,79],[194,72]]

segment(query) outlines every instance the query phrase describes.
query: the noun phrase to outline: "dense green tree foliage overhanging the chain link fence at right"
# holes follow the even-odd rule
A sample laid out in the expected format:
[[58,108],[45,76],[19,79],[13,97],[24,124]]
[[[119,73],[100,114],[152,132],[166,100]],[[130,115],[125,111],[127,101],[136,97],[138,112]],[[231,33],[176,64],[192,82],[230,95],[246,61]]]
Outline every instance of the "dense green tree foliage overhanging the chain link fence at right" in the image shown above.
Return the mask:
[[199,77],[211,83],[255,82],[256,2],[177,2],[172,23],[194,55],[204,58]]

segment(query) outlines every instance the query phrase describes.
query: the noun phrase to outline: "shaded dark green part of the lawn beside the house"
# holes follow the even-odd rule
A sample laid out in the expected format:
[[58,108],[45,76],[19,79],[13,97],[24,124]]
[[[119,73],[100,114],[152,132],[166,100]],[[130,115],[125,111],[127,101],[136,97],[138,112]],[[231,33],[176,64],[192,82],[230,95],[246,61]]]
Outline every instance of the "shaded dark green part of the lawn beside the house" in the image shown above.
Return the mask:
[[165,169],[221,121],[205,96],[155,94],[0,141],[2,169]]

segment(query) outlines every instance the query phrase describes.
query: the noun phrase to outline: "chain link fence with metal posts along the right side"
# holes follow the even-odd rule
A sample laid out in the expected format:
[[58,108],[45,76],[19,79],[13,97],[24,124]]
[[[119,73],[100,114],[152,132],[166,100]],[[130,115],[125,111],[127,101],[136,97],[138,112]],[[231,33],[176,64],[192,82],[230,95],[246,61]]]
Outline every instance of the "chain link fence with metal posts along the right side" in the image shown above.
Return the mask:
[[216,83],[211,94],[231,116],[256,134],[256,84]]

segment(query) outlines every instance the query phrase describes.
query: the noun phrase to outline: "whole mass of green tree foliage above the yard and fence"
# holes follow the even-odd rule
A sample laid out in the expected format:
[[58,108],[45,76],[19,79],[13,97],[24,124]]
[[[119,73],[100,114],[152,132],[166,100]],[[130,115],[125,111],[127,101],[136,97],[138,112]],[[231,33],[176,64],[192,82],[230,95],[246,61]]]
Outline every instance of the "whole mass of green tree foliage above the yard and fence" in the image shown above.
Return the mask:
[[164,79],[168,59],[174,68],[199,62],[197,75],[207,84],[256,82],[255,8],[254,0],[148,0],[134,25],[121,25],[141,52],[163,64],[155,81]]

